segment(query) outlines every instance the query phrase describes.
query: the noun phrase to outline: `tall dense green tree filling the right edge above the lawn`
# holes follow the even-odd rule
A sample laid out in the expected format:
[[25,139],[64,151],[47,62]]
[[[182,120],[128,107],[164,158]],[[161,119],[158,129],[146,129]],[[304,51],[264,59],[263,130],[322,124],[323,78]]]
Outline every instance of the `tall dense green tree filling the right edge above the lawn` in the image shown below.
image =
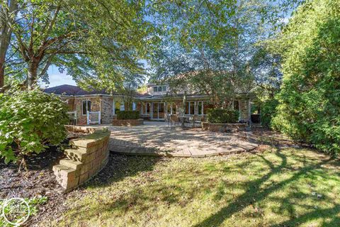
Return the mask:
[[278,40],[283,84],[273,126],[295,140],[340,152],[340,1],[300,6]]

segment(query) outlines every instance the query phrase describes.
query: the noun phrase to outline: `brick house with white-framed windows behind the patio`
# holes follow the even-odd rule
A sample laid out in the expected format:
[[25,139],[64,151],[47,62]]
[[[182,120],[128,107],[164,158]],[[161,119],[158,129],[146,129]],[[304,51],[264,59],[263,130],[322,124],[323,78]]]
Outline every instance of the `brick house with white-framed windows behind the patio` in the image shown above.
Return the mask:
[[[73,114],[76,124],[112,123],[117,111],[125,110],[128,105],[123,94],[108,93],[105,90],[87,92],[77,86],[61,85],[44,90],[49,94],[57,94],[69,106],[69,114]],[[185,97],[183,97],[185,96]],[[183,107],[183,99],[186,101]],[[233,108],[239,111],[239,121],[250,121],[251,95],[238,94],[233,100]],[[140,111],[143,118],[162,121],[166,114],[184,114],[204,116],[213,105],[207,95],[171,94],[167,84],[147,84],[147,92],[135,92],[132,97],[132,110]]]

